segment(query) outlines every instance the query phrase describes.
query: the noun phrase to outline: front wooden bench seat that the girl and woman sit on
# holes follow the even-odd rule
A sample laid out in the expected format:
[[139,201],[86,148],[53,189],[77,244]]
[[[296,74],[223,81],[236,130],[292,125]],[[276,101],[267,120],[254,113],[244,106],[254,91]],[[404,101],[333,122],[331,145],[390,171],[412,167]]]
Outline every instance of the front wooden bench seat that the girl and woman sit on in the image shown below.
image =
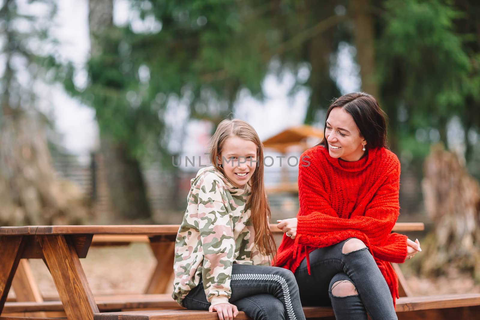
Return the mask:
[[[443,315],[452,316],[447,309],[454,309],[452,312],[458,317],[456,319],[476,319],[466,318],[465,312],[469,312],[473,317],[480,310],[480,294],[459,294],[443,296],[417,296],[401,297],[396,303],[396,312],[399,319],[442,319]],[[470,311],[460,310],[465,307],[472,307]],[[439,310],[444,309],[444,310]],[[307,319],[332,318],[334,316],[332,308],[328,307],[304,307]],[[432,311],[432,316],[421,311]],[[405,314],[402,314],[405,313]],[[419,313],[419,315],[415,315]],[[462,316],[461,314],[464,316]],[[420,315],[421,314],[421,315]],[[433,314],[435,314],[433,316]],[[94,320],[163,320],[163,319],[195,319],[195,320],[218,320],[216,313],[197,310],[157,310],[157,311],[129,311],[129,312],[108,312],[97,313]],[[237,316],[238,320],[248,320],[244,312]],[[0,319],[1,320],[1,319]]]

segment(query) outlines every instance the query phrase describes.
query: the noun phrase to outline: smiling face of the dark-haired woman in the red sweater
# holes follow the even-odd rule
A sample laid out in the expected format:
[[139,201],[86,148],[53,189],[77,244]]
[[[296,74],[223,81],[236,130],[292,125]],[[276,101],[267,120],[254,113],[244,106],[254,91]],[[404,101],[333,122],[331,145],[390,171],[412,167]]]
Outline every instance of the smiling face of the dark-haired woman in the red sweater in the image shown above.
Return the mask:
[[367,142],[360,135],[352,116],[341,107],[330,111],[325,126],[325,138],[332,158],[357,161],[365,153],[362,149]]

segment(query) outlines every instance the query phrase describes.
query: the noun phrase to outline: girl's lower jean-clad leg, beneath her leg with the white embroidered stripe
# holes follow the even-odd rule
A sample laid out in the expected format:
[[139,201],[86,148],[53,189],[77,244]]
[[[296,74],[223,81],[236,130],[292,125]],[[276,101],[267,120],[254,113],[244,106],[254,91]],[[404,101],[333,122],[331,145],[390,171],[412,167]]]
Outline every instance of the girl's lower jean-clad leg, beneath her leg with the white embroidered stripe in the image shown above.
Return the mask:
[[283,303],[270,294],[258,294],[236,300],[234,305],[252,320],[285,320]]

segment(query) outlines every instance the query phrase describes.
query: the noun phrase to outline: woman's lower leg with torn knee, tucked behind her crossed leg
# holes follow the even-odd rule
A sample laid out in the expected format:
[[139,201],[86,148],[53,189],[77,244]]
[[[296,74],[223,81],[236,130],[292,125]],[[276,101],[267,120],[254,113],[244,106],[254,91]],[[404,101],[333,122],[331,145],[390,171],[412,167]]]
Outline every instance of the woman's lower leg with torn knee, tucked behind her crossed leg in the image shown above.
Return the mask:
[[[341,288],[343,286],[343,288]],[[356,291],[355,284],[345,273],[337,273],[328,291],[336,320],[367,320],[367,310]]]

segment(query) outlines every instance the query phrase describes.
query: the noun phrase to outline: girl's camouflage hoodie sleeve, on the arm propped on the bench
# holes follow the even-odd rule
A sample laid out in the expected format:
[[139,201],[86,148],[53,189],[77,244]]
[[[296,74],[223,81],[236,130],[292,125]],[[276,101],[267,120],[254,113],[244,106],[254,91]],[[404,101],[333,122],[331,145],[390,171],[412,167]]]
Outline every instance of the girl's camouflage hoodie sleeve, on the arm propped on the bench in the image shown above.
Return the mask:
[[198,193],[198,227],[204,252],[202,279],[207,300],[228,303],[235,252],[232,217],[225,208],[221,182],[206,175]]

